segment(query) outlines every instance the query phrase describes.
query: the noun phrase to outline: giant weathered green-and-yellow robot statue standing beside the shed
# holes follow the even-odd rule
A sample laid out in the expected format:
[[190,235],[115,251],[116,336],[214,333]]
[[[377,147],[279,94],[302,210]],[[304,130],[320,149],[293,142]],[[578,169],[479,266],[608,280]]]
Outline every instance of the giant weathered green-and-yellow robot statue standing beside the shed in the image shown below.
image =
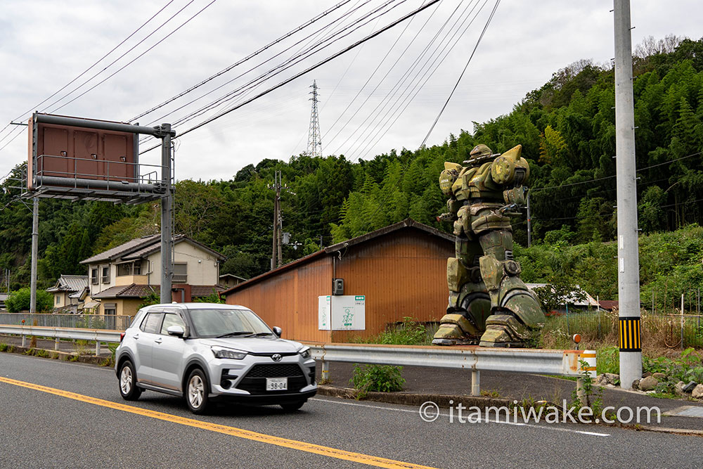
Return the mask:
[[434,344],[524,347],[545,321],[512,258],[509,216],[524,205],[529,177],[521,151],[518,145],[498,155],[478,145],[465,166],[444,163],[439,187],[449,213],[439,219],[454,222],[456,257],[447,259],[449,306]]

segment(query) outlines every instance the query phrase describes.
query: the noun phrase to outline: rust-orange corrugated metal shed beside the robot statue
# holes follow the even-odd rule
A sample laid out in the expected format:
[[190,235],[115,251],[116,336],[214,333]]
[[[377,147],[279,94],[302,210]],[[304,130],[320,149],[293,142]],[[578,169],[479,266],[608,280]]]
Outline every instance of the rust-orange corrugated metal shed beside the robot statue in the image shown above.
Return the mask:
[[[225,290],[228,304],[251,308],[283,337],[347,342],[369,337],[409,316],[439,321],[446,311],[446,259],[454,237],[406,219],[338,243]],[[366,330],[319,330],[318,297],[333,295],[333,279],[343,295],[363,295]]]

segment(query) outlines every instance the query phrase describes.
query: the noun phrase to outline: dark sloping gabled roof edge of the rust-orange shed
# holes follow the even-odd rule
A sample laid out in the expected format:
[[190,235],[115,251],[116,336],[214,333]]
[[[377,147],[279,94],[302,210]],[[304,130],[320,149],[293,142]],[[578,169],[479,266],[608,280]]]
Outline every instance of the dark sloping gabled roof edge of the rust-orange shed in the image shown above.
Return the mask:
[[357,236],[356,238],[342,241],[342,243],[333,244],[331,246],[328,246],[327,248],[324,248],[324,249],[319,250],[317,252],[313,252],[312,254],[309,254],[305,257],[301,257],[300,259],[296,259],[295,261],[292,261],[292,262],[289,262],[288,264],[282,265],[282,266],[278,267],[278,269],[273,269],[268,272],[264,272],[264,274],[261,274],[259,276],[254,277],[254,278],[250,278],[250,280],[247,280],[247,281],[242,282],[238,285],[234,285],[233,287],[228,288],[227,290],[224,290],[224,292],[222,292],[222,294],[226,295],[227,293],[231,293],[231,292],[239,290],[241,288],[247,288],[249,285],[252,285],[254,283],[262,281],[265,278],[269,278],[271,276],[276,276],[276,275],[281,274],[281,273],[288,271],[290,269],[295,269],[297,266],[301,266],[302,264],[307,264],[307,262],[310,262],[311,260],[316,259],[318,257],[321,257],[323,255],[333,255],[341,250],[351,248],[354,245],[366,243],[370,240],[373,240],[375,238],[379,238],[380,236],[384,236],[389,233],[394,233],[395,231],[399,231],[401,229],[418,229],[420,231],[424,231],[425,233],[429,233],[432,236],[437,236],[438,238],[443,238],[445,240],[451,241],[451,243],[454,242],[454,236],[452,236],[451,234],[445,233],[444,231],[439,231],[436,228],[432,228],[432,226],[427,226],[427,225],[420,223],[419,221],[415,221],[411,218],[406,218],[403,221],[399,221],[398,223],[384,226],[383,228],[375,230],[375,231],[371,231],[370,233],[366,233],[364,235]]

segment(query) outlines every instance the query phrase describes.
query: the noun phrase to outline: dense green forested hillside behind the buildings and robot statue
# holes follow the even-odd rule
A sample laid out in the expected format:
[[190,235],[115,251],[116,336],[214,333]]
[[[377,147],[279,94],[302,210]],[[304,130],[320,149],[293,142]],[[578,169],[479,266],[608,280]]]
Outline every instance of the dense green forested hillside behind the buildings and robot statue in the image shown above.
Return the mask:
[[[640,44],[634,58],[639,223],[644,233],[681,229],[703,221],[703,39],[667,37]],[[273,173],[283,173],[286,262],[323,245],[412,217],[449,230],[437,178],[444,161],[461,162],[477,143],[503,152],[521,143],[531,165],[533,252],[553,246],[614,239],[614,70],[580,60],[555,72],[508,115],[467,122],[441,146],[390,150],[370,160],[343,155],[262,160],[228,181],[176,184],[176,231],[228,257],[222,273],[250,277],[269,267]],[[18,163],[20,163],[18,161]],[[176,174],[176,177],[179,177]],[[12,288],[27,284],[31,213],[13,200],[10,181],[0,194],[0,269]],[[39,279],[46,287],[60,274],[82,274],[78,262],[136,236],[159,231],[157,205],[65,203],[41,200]],[[526,222],[515,238],[527,244]],[[600,245],[600,243],[598,243]],[[604,248],[607,249],[607,248]],[[532,250],[531,250],[532,251]],[[522,255],[529,252],[522,250]],[[534,254],[535,256],[537,254]],[[530,280],[561,272],[533,269]],[[591,271],[592,272],[592,271]],[[601,280],[605,281],[603,275]],[[576,278],[578,281],[578,278]],[[595,283],[595,279],[593,282]],[[583,283],[581,281],[580,283]],[[607,285],[593,286],[604,296]]]

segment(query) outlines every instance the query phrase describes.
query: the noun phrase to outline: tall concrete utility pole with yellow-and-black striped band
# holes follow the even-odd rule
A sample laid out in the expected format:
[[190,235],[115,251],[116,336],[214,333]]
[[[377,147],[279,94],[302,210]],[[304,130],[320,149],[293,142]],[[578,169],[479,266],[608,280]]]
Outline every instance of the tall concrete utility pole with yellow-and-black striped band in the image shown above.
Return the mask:
[[642,378],[642,347],[629,0],[614,0],[614,25],[620,386],[630,389]]

